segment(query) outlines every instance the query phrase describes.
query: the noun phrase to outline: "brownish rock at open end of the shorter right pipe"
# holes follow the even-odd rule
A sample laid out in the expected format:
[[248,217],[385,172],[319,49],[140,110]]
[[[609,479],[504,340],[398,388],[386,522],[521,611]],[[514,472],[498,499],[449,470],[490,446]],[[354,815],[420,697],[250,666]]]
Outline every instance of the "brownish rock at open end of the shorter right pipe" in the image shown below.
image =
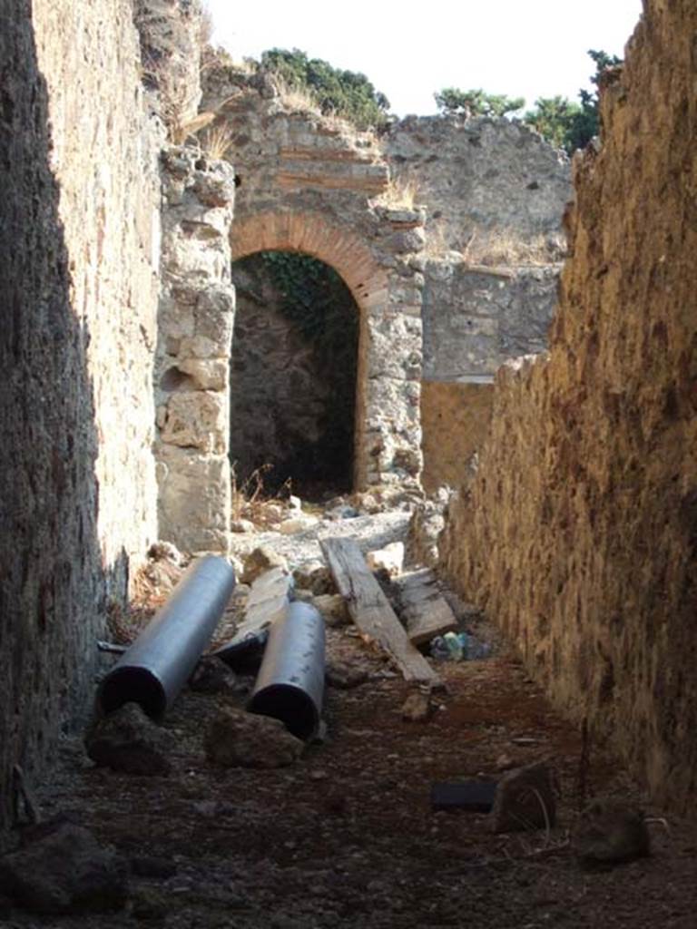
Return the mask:
[[280,720],[230,707],[218,711],[205,738],[208,760],[223,767],[292,765],[303,748]]

